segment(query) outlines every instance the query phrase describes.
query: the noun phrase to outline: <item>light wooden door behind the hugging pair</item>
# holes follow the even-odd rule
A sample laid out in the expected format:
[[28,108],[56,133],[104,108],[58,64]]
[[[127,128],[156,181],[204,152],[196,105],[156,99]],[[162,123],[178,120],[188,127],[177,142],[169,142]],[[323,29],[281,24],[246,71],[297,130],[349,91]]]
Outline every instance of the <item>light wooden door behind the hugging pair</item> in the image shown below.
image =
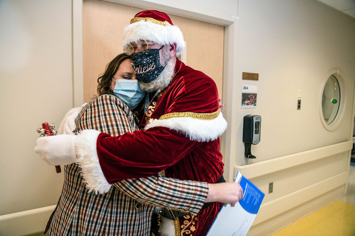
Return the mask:
[[[144,9],[99,0],[83,1],[84,102],[97,95],[97,78],[123,52],[122,32]],[[170,15],[186,41],[186,65],[210,76],[222,98],[224,27]]]

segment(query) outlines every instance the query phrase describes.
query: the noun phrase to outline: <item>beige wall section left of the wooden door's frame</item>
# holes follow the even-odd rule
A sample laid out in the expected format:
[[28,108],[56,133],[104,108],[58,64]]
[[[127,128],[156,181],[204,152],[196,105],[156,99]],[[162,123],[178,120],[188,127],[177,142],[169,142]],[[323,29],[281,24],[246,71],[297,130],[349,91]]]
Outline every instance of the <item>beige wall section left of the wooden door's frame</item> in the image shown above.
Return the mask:
[[55,205],[61,192],[63,174],[33,149],[42,122],[59,125],[72,107],[71,11],[70,0],[0,1],[0,235],[16,235],[3,215]]

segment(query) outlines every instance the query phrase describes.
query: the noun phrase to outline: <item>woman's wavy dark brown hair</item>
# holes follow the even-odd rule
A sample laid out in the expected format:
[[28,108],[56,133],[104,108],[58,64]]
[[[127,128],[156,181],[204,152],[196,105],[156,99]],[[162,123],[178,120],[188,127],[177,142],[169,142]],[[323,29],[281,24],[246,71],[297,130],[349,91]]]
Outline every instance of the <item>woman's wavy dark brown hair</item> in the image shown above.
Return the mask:
[[126,53],[121,53],[107,64],[105,72],[97,79],[97,93],[99,96],[102,94],[113,94],[111,90],[111,78],[116,73],[121,63],[126,59],[131,59],[131,56]]

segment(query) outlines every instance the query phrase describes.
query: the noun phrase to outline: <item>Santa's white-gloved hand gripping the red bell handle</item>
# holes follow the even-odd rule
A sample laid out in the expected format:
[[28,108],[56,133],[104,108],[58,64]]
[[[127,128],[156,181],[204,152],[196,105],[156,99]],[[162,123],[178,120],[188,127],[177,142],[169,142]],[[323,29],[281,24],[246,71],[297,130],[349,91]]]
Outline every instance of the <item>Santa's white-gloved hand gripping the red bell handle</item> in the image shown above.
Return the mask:
[[50,166],[69,165],[76,162],[75,139],[77,136],[61,134],[37,139],[34,151]]

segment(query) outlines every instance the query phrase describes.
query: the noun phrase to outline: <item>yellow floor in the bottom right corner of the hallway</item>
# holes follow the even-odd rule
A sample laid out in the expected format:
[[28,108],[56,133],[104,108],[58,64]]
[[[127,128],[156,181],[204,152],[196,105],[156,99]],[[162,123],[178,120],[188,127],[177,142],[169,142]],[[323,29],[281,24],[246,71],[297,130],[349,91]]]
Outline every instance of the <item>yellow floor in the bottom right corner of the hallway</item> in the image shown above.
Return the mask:
[[272,236],[355,236],[355,205],[337,200]]

